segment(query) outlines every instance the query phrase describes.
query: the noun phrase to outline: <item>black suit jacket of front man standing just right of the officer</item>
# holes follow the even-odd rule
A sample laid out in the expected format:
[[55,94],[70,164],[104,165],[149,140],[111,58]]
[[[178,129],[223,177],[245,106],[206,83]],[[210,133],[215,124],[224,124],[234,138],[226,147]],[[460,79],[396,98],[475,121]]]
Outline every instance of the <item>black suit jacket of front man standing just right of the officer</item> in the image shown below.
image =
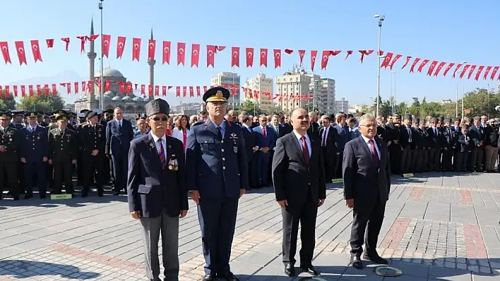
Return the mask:
[[309,165],[302,154],[299,141],[292,132],[276,142],[273,157],[273,183],[276,201],[287,200],[287,211],[302,209],[308,193],[313,204],[326,198],[325,171],[320,143],[311,140]]

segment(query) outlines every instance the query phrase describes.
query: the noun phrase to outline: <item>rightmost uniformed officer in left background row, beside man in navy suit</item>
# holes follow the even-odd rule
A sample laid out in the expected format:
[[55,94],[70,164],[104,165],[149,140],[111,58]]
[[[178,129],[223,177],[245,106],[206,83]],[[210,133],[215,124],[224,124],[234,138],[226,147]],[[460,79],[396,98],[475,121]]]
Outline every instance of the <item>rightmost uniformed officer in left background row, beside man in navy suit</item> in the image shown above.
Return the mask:
[[80,130],[80,145],[82,146],[83,189],[82,197],[88,195],[90,185],[95,175],[97,196],[103,196],[102,171],[105,161],[106,135],[105,128],[98,123],[97,112],[88,111],[85,114],[87,123]]

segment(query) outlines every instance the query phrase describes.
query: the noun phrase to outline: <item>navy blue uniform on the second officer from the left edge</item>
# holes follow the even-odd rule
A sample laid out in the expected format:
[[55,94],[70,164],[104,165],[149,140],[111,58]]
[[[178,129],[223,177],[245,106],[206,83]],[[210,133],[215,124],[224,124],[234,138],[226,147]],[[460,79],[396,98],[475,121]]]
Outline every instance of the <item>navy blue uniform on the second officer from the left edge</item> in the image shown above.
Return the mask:
[[37,187],[40,197],[44,198],[47,193],[47,180],[45,163],[43,158],[49,156],[49,135],[47,130],[37,125],[34,132],[30,132],[31,127],[24,127],[20,130],[20,158],[25,158],[23,164],[24,184],[26,196],[33,194],[33,179],[37,179]]

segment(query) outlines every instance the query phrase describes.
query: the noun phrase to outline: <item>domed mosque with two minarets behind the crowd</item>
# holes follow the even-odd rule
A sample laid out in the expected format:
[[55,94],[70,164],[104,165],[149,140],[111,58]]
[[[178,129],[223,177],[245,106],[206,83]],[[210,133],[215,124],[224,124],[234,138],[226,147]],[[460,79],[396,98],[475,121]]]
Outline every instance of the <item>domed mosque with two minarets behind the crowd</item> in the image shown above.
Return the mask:
[[[94,23],[90,23],[90,35],[94,35]],[[153,39],[153,29],[151,30],[151,39]],[[87,53],[88,63],[89,63],[89,80],[94,81],[95,79],[100,79],[100,72],[95,73],[95,58],[97,54],[95,53],[95,41],[100,42],[100,40],[94,40],[90,42],[90,51]],[[155,85],[155,60],[148,60],[149,65],[149,85]],[[104,68],[103,70],[103,80],[109,80],[111,83],[109,85],[109,91],[104,93],[103,98],[103,109],[113,109],[117,106],[124,109],[124,115],[127,118],[130,116],[135,116],[136,113],[144,113],[145,104],[150,101],[150,96],[143,96],[138,92],[138,94],[122,94],[120,91],[120,85],[117,82],[128,82],[126,77],[121,74],[121,72],[114,68]],[[146,89],[147,92],[148,89]],[[140,91],[140,89],[139,89]],[[135,90],[134,92],[137,92]],[[75,101],[75,111],[78,113],[83,109],[95,109],[100,108],[100,89],[99,87],[94,87],[93,91],[90,92],[88,89],[85,90],[85,95],[80,99]]]

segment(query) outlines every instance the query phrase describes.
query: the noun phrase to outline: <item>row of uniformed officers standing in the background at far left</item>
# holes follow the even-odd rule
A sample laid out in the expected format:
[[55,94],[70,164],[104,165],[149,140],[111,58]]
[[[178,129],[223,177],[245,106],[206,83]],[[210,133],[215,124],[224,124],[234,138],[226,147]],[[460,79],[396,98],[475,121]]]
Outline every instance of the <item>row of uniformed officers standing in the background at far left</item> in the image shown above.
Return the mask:
[[61,194],[63,186],[74,194],[75,171],[83,185],[81,196],[87,196],[92,185],[103,196],[102,185],[110,175],[105,125],[112,111],[58,110],[49,120],[40,117],[35,111],[0,111],[0,199],[4,189],[14,200],[20,194],[30,199],[33,187],[42,199],[47,187],[52,194]]

